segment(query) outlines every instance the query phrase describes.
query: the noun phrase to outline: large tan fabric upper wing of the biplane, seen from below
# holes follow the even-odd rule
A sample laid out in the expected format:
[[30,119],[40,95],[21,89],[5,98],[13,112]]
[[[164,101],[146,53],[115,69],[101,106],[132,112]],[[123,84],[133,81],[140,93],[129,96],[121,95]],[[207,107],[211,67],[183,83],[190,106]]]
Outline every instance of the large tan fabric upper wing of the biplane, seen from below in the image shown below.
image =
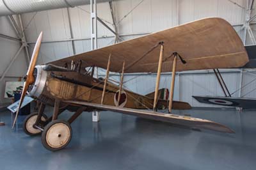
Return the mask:
[[209,18],[53,61],[51,64],[64,66],[65,63],[70,65],[72,60],[82,60],[85,61],[85,67],[106,68],[111,54],[111,72],[121,72],[122,61],[125,61],[126,66],[130,65],[125,69],[126,73],[157,72],[160,48],[157,47],[145,57],[143,55],[159,42],[164,42],[162,72],[172,72],[170,55],[173,52],[178,52],[186,61],[184,65],[178,59],[177,71],[235,68],[248,62],[244,45],[233,27],[226,20]]

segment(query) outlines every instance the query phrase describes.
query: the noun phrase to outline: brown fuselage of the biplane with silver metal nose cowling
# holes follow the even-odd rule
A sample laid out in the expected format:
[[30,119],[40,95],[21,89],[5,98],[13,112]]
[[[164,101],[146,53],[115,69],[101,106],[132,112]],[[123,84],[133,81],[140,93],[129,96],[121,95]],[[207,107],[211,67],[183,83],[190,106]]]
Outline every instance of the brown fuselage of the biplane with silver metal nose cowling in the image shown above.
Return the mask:
[[[47,105],[54,100],[79,100],[100,104],[104,81],[88,73],[45,71],[44,65],[35,67],[35,82],[29,88],[29,95]],[[134,109],[152,109],[154,100],[122,89],[118,104],[119,86],[108,82],[104,104]]]

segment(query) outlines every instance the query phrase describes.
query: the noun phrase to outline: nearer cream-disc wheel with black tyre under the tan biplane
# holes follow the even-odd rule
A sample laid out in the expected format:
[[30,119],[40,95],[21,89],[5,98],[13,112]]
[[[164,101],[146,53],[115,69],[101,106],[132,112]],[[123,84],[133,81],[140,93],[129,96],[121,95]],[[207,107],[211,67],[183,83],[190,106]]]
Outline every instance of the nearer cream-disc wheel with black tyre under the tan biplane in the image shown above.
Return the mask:
[[72,137],[70,123],[63,120],[51,121],[42,133],[42,144],[47,150],[57,151],[65,148]]

